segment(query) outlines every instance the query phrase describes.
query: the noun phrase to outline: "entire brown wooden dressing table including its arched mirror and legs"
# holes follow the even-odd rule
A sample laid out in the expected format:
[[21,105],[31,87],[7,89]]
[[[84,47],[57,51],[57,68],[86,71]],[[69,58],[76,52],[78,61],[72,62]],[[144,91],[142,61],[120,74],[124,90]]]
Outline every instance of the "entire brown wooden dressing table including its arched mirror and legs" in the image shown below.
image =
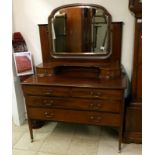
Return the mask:
[[112,126],[121,150],[124,91],[122,22],[94,4],[58,7],[39,25],[43,63],[22,82],[28,124],[33,120]]

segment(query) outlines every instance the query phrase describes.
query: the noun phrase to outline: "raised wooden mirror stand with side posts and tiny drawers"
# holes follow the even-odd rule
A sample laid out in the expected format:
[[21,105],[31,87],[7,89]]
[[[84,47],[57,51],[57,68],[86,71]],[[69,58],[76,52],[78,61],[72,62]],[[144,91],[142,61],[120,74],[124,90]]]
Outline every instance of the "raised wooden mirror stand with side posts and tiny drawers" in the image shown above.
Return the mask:
[[[77,5],[88,5],[88,4],[71,4],[71,6]],[[70,5],[65,5],[70,6]],[[65,7],[64,6],[64,7]],[[98,5],[92,5],[98,6]],[[99,6],[101,7],[101,6]],[[54,9],[58,10],[58,7]],[[101,7],[103,8],[103,7]],[[36,67],[36,72],[38,75],[55,75],[55,69],[61,67],[63,70],[66,68],[69,69],[69,72],[72,71],[72,75],[76,73],[76,69],[84,71],[88,69],[89,73],[94,72],[96,78],[99,79],[114,79],[122,75],[122,65],[121,65],[121,47],[122,47],[122,28],[123,22],[112,22],[109,26],[111,34],[111,55],[105,58],[101,55],[80,55],[80,56],[53,56],[51,48],[49,45],[49,24],[39,24],[39,33],[42,49],[42,60],[43,63],[39,64]],[[74,69],[75,70],[74,70]],[[73,69],[73,70],[72,70]],[[85,72],[85,71],[84,71]],[[79,74],[80,75],[80,74]]]

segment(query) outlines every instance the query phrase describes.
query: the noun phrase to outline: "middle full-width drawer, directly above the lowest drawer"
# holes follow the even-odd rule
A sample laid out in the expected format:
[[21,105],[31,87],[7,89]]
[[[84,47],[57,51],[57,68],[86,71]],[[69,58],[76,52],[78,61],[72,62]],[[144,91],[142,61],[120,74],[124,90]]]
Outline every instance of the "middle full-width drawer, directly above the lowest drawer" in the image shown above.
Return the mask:
[[79,99],[60,97],[27,96],[26,103],[30,107],[48,107],[76,110],[93,110],[120,112],[119,100]]

